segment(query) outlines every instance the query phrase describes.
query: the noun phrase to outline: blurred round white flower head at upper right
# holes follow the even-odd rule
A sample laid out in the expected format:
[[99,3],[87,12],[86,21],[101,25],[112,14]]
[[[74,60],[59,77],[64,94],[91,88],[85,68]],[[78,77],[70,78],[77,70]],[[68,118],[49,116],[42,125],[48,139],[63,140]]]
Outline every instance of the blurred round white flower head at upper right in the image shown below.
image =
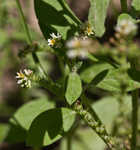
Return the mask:
[[121,35],[129,35],[137,30],[137,25],[130,20],[122,20],[117,24],[115,28],[116,32]]

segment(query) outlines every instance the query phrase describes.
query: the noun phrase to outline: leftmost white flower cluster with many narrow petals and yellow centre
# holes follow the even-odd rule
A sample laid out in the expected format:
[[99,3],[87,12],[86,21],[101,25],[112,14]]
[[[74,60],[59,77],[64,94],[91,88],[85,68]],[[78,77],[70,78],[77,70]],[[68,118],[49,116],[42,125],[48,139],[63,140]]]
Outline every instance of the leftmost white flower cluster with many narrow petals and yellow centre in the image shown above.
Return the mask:
[[17,72],[17,84],[20,84],[21,87],[31,88],[31,76],[33,71],[30,69],[24,69],[23,72]]

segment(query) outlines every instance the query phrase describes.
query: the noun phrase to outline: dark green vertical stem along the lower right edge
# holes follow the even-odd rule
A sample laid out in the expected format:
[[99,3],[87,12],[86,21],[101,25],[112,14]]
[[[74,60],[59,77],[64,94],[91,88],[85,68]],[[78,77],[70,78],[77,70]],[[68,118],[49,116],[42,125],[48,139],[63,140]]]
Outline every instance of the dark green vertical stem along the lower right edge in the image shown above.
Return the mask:
[[138,97],[139,90],[136,89],[132,92],[132,139],[131,139],[131,149],[136,149],[137,143],[137,131],[138,131]]

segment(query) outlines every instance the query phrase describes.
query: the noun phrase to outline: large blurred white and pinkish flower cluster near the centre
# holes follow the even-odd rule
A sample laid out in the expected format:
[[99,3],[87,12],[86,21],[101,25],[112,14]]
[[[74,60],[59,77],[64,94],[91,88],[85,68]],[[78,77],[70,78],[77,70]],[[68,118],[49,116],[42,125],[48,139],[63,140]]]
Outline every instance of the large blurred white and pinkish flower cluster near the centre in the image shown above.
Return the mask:
[[91,45],[90,39],[74,37],[66,43],[68,48],[67,56],[71,59],[79,57],[85,59],[88,54],[88,47]]

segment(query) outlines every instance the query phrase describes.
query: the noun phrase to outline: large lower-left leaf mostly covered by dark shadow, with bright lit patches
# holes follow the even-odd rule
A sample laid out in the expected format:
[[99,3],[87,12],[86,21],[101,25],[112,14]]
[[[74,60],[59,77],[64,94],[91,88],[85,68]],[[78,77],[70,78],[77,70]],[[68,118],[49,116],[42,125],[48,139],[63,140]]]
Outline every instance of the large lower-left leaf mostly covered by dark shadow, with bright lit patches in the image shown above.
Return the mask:
[[67,108],[56,108],[40,114],[32,123],[26,143],[41,147],[54,143],[71,128],[75,112]]

